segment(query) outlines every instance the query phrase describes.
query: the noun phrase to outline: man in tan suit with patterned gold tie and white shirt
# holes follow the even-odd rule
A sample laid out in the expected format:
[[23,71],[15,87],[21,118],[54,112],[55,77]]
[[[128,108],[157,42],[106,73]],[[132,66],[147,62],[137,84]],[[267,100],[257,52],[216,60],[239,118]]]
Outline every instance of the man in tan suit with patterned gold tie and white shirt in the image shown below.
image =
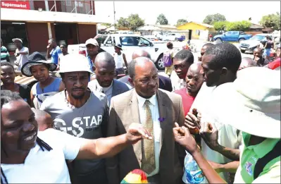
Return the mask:
[[135,89],[111,99],[107,137],[125,133],[131,122],[142,123],[153,140],[128,147],[106,161],[108,183],[115,184],[130,171],[141,168],[149,183],[182,183],[185,150],[175,142],[173,127],[185,123],[180,95],[158,90],[154,63],[139,57],[129,63]]

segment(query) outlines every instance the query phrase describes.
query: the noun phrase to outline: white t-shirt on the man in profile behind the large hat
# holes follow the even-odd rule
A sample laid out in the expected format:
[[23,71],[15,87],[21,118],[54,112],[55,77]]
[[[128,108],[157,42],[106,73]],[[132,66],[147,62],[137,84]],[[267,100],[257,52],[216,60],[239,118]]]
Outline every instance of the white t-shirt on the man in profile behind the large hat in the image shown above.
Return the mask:
[[[220,86],[208,87],[206,86],[206,82],[204,82],[190,108],[190,112],[196,108],[202,114],[201,123],[208,122],[216,126],[218,129],[218,143],[220,145],[232,149],[239,149],[239,145],[242,145],[241,131],[237,135],[237,129],[227,125],[227,122],[221,122],[219,118],[220,114],[216,111],[216,102],[220,100],[220,95],[222,95],[220,94]],[[207,160],[219,164],[226,164],[232,161],[224,157],[223,154],[209,148],[203,139],[201,140],[201,152]],[[219,175],[221,178],[227,180],[227,173],[219,173]]]

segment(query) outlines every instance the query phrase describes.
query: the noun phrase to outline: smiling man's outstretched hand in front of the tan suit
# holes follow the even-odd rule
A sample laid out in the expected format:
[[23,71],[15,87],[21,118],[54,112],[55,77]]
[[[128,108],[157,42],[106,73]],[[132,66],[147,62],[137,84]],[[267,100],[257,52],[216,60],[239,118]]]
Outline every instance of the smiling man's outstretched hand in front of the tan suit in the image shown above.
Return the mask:
[[132,123],[129,126],[126,138],[127,142],[130,142],[130,144],[135,144],[139,140],[142,140],[142,138],[152,140],[151,134],[139,123]]

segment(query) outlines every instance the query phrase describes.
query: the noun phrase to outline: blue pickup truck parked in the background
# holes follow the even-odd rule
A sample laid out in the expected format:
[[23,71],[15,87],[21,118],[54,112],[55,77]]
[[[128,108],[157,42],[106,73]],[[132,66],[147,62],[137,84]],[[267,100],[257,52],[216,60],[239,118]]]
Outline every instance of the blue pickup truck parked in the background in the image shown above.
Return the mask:
[[228,31],[223,33],[223,35],[216,35],[213,37],[213,40],[218,40],[221,42],[242,42],[244,40],[250,39],[251,37],[252,35],[246,35],[241,31]]

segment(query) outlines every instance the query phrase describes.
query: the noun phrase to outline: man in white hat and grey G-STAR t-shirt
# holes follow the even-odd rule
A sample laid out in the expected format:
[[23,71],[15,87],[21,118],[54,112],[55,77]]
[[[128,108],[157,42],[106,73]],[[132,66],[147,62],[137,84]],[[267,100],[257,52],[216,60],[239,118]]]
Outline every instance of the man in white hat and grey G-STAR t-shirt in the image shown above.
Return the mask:
[[[82,54],[63,56],[59,72],[65,90],[46,99],[40,109],[51,115],[57,130],[87,139],[106,137],[107,99],[88,88],[92,70],[87,58]],[[104,159],[75,160],[72,166],[74,183],[107,183]]]

